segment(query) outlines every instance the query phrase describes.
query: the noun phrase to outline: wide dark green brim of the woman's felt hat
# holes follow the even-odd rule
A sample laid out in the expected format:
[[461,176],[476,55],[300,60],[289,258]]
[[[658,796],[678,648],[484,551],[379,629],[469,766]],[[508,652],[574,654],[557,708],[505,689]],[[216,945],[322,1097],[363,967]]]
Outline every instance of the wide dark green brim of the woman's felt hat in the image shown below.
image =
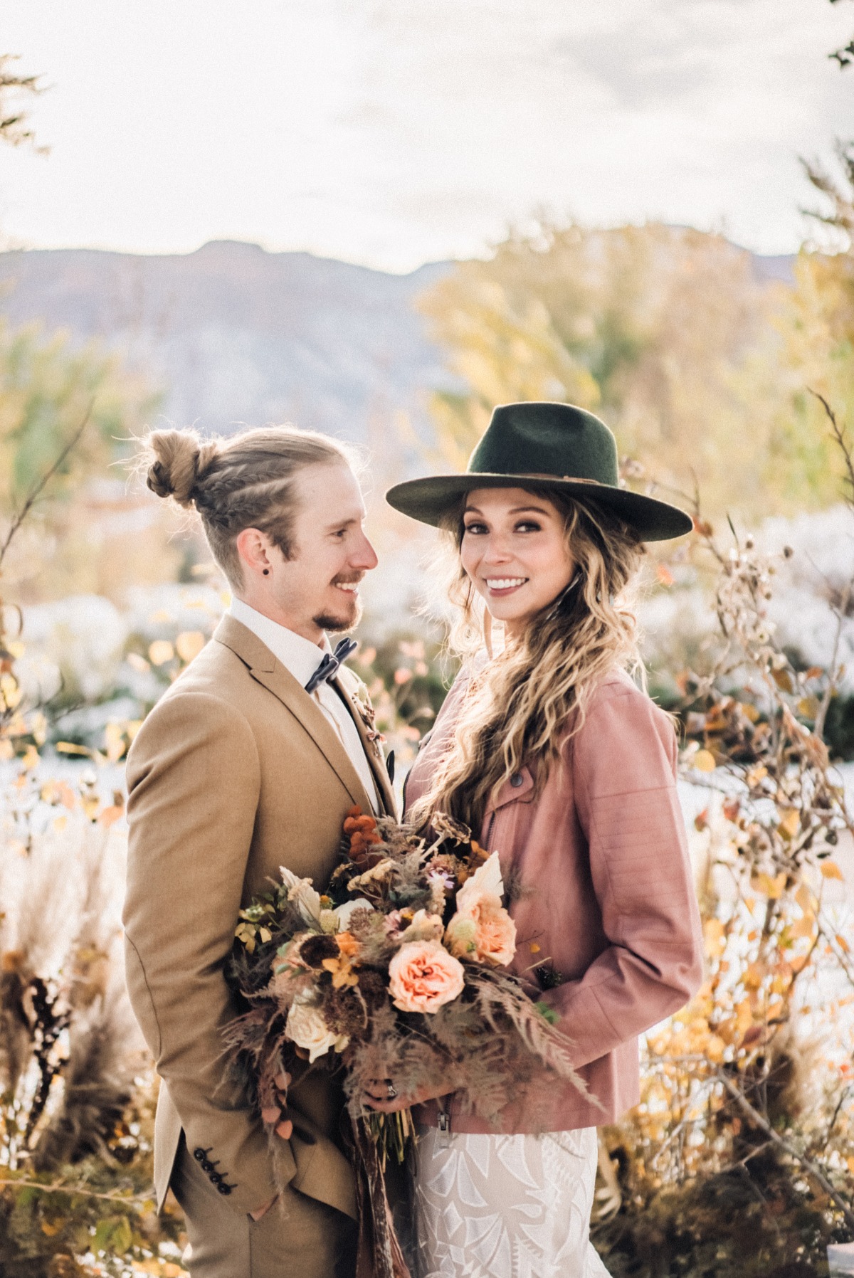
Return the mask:
[[423,479],[407,479],[389,488],[386,501],[403,515],[417,519],[422,524],[437,528],[454,505],[473,488],[560,488],[573,497],[612,510],[632,528],[642,542],[664,542],[671,537],[684,537],[692,530],[690,515],[671,506],[670,502],[628,488],[614,488],[611,484],[594,483],[586,479],[563,479],[555,475],[506,475],[506,474],[463,474],[426,475]]

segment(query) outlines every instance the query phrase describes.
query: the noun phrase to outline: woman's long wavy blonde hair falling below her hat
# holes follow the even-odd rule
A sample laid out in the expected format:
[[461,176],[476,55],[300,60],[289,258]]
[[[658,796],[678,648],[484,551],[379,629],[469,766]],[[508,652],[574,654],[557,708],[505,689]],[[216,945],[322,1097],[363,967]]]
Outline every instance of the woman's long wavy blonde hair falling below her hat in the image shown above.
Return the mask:
[[620,519],[592,502],[569,498],[560,488],[538,488],[537,495],[564,516],[575,578],[479,670],[473,658],[483,647],[483,621],[460,560],[463,504],[444,521],[454,551],[449,596],[458,610],[449,645],[468,658],[469,672],[460,675],[468,682],[453,746],[409,815],[415,826],[446,812],[478,829],[490,799],[523,764],[538,794],[564,743],[582,727],[602,679],[625,670],[643,681],[630,610],[643,546]]

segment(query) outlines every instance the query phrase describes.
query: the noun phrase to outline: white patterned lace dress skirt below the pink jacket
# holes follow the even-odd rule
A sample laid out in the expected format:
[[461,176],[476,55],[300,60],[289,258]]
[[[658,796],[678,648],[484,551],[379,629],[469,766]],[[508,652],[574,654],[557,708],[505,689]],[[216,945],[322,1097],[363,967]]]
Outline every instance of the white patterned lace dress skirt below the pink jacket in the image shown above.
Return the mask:
[[589,1241],[594,1127],[418,1140],[418,1278],[607,1278]]

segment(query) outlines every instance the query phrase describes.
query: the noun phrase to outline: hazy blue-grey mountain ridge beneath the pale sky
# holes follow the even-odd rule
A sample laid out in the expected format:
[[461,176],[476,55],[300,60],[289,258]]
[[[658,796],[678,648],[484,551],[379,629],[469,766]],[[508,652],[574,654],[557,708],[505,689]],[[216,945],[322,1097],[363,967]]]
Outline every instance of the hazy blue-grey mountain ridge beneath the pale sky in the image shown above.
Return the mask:
[[[791,279],[793,258],[750,257],[758,279]],[[242,240],[174,254],[14,249],[0,253],[0,313],[118,351],[162,389],[174,426],[294,422],[376,446],[403,414],[428,442],[430,394],[455,381],[415,303],[453,268],[394,275]]]

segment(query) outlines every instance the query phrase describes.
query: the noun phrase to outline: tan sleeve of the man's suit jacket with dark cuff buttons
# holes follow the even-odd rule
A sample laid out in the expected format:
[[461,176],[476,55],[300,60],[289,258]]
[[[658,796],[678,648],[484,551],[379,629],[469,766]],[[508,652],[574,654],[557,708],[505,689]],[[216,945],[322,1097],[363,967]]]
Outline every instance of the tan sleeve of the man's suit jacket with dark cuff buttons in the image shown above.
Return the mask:
[[190,1153],[233,1187],[222,1204],[253,1212],[275,1194],[267,1140],[230,1077],[222,1028],[238,1008],[231,951],[260,791],[245,720],[206,693],[155,707],[128,758],[130,1001]]

